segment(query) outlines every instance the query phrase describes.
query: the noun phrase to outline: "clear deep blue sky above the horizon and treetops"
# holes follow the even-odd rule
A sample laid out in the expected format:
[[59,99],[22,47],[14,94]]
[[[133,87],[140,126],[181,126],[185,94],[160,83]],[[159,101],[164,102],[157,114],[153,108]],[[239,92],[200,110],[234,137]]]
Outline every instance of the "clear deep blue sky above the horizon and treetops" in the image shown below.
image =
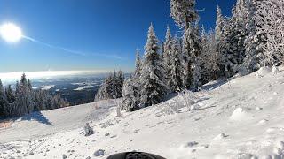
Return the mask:
[[[230,16],[236,0],[197,0],[201,24],[215,26],[219,4]],[[114,70],[130,71],[135,50],[143,53],[151,22],[160,41],[166,26],[178,33],[170,18],[170,0],[0,0],[0,24],[10,21],[37,41],[0,39],[0,72]]]

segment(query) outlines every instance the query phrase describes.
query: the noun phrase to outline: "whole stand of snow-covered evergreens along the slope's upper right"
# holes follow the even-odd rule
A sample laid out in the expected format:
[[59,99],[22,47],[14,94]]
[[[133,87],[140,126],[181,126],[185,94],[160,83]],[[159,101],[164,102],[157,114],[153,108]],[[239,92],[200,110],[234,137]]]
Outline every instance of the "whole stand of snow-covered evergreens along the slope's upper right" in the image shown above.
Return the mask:
[[284,1],[237,0],[232,17],[217,6],[214,30],[200,28],[195,0],[170,0],[170,17],[182,29],[167,27],[159,42],[153,24],[144,56],[137,51],[135,72],[122,87],[122,110],[133,111],[162,102],[183,89],[198,91],[213,79],[228,79],[283,61]]

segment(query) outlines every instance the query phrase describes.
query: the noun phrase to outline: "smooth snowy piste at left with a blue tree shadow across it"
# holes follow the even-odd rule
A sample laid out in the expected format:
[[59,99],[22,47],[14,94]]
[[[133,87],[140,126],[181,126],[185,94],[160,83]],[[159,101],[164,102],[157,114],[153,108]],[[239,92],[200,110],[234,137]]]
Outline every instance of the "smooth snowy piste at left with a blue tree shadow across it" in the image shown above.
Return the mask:
[[13,119],[15,122],[8,128],[0,128],[0,143],[35,139],[83,127],[90,120],[99,120],[109,115],[109,108],[114,107],[114,104],[112,101],[100,101]]

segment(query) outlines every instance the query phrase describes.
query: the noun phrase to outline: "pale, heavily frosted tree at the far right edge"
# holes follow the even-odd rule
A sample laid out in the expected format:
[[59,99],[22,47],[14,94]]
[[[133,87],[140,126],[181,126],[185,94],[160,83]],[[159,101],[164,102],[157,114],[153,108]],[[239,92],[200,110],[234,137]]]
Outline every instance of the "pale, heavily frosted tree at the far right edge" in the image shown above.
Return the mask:
[[[259,12],[265,15],[261,21],[261,28],[256,26],[257,30],[265,33],[264,58],[262,65],[281,64],[284,57],[284,1],[271,0],[259,4]],[[257,12],[257,11],[256,11]]]

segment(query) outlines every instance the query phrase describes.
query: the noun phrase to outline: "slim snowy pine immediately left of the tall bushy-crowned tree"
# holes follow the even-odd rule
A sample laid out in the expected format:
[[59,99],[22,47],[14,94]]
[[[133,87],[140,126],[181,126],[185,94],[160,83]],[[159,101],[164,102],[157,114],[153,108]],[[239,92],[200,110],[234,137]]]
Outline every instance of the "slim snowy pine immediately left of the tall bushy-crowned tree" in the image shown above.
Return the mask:
[[168,86],[172,92],[180,91],[183,88],[182,75],[182,63],[181,54],[179,51],[179,42],[177,36],[173,39],[171,46],[171,58],[170,58],[170,76],[168,79]]

